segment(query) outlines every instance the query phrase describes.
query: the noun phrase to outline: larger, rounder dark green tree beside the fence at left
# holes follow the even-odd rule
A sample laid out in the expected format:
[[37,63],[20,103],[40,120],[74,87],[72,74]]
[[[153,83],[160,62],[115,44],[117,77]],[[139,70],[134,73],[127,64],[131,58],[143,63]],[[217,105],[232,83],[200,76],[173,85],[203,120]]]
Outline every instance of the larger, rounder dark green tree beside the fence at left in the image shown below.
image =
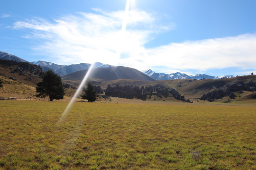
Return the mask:
[[53,99],[63,99],[65,93],[61,77],[56,75],[52,70],[48,70],[42,78],[43,81],[37,83],[37,97],[49,96],[50,101],[53,101]]

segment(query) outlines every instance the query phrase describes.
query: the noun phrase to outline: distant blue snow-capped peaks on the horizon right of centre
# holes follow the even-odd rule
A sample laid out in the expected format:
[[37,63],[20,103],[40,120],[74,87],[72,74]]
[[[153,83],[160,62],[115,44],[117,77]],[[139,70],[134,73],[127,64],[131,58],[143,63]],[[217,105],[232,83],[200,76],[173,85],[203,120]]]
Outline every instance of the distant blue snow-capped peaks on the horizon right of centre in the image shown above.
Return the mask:
[[146,74],[147,76],[150,76],[154,78],[155,80],[174,80],[174,79],[220,79],[220,78],[231,78],[234,76],[209,76],[205,74],[197,74],[195,76],[188,76],[184,73],[175,72],[172,74],[165,74],[165,73],[155,73],[151,69],[146,69],[141,71],[142,73]]

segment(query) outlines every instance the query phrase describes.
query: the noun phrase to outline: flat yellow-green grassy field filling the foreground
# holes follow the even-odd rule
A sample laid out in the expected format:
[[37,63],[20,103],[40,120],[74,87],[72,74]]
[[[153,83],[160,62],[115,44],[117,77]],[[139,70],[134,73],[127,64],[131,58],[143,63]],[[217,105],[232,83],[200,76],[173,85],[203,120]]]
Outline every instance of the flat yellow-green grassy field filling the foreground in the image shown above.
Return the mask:
[[256,170],[256,107],[0,101],[0,170]]

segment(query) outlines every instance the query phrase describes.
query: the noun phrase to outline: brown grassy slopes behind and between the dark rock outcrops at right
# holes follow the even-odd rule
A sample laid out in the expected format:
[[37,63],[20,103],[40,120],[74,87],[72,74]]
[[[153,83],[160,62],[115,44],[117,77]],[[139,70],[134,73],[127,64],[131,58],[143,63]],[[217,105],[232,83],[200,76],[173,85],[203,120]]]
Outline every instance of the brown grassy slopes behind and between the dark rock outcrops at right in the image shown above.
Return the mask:
[[[134,85],[134,86],[152,85],[157,87],[174,88],[180,94],[184,95],[186,99],[190,99],[196,102],[197,100],[200,100],[200,97],[203,94],[219,89],[219,87],[225,84],[236,83],[239,81],[244,82],[246,84],[250,80],[253,82],[256,82],[256,75],[238,76],[238,77],[225,78],[225,79],[205,79],[205,80],[181,79],[181,80],[139,81],[139,80],[119,79],[119,80],[111,80],[111,81],[93,82],[93,84],[100,85],[103,89],[107,88],[108,85],[117,85],[117,84]],[[248,92],[248,93],[252,93],[252,92]],[[243,96],[244,94],[240,94],[240,95]],[[246,99],[246,98],[242,97],[238,100],[240,101],[243,99]],[[253,98],[250,98],[250,99],[253,99]]]

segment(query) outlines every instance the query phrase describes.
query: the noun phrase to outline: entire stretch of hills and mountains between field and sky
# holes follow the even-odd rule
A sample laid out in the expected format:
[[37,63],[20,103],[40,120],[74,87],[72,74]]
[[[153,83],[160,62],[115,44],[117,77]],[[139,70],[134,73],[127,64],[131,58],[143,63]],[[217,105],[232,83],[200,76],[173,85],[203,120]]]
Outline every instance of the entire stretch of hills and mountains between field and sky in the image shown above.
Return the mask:
[[[33,63],[27,62],[17,56],[0,52],[0,78],[5,82],[4,90],[0,91],[0,96],[8,97],[15,95],[16,97],[34,97],[35,87],[42,80],[44,68],[45,70],[54,70],[58,74],[67,74],[61,78],[65,87],[66,96],[71,97],[75,93],[75,88],[81,84],[84,75],[88,71],[88,69],[84,68],[91,66],[91,64],[86,63],[68,66],[57,65],[46,61],[35,61]],[[218,100],[219,102],[230,102],[234,100],[247,102],[247,100],[256,100],[254,93],[256,91],[255,75],[218,79],[219,77],[202,74],[188,76],[179,72],[172,74],[155,73],[151,69],[143,72],[134,68],[110,66],[98,62],[91,70],[89,79],[93,85],[100,86],[103,90],[109,86],[111,88],[113,87],[113,91],[111,91],[113,93],[116,93],[116,89],[119,89],[119,92],[121,92],[121,89],[125,93],[130,93],[132,91],[129,90],[136,88],[136,86],[141,89],[145,87],[147,90],[150,90],[150,88],[152,90],[154,87],[156,89],[155,92],[151,92],[151,90],[147,92],[152,93],[151,95],[158,100],[161,100],[163,96],[169,96],[169,92],[166,93],[166,89],[175,90],[175,93],[174,90],[171,90],[172,95],[169,97],[176,99],[182,95],[183,99],[186,97],[187,101],[198,102],[199,100],[207,100],[213,102]],[[20,90],[17,91],[17,89]],[[24,89],[26,90],[24,91]],[[27,89],[30,90],[27,91]],[[179,99],[182,99],[182,97]]]

